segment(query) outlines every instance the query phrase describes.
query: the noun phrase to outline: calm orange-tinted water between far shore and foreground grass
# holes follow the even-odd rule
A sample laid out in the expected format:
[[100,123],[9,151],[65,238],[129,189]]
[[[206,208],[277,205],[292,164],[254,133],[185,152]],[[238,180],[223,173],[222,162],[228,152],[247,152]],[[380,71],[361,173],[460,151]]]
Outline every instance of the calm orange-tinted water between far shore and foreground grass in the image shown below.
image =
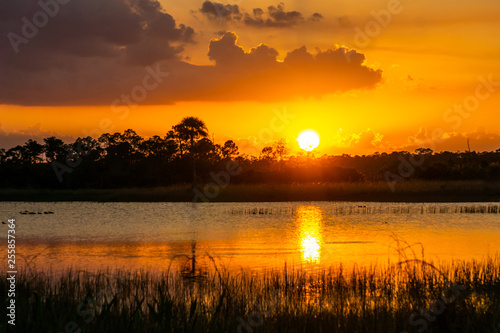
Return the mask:
[[16,219],[18,265],[34,269],[162,271],[193,257],[208,267],[212,257],[230,270],[261,270],[384,265],[398,260],[396,239],[412,245],[411,258],[423,248],[434,261],[482,259],[500,253],[500,214],[460,213],[481,205],[4,202],[0,212]]

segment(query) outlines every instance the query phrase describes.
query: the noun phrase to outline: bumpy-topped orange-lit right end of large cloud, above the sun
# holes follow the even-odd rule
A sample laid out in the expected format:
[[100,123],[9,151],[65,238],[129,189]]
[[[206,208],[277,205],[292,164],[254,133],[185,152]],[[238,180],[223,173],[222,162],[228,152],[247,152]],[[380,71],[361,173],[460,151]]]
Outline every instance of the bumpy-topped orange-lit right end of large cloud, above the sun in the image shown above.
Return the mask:
[[[350,62],[347,52],[352,52]],[[173,70],[175,85],[169,87],[173,98],[280,101],[371,89],[382,80],[382,71],[366,66],[363,54],[339,46],[316,54],[301,47],[279,61],[278,51],[271,46],[261,44],[246,51],[238,45],[236,34],[227,32],[210,42],[208,56],[215,66]]]

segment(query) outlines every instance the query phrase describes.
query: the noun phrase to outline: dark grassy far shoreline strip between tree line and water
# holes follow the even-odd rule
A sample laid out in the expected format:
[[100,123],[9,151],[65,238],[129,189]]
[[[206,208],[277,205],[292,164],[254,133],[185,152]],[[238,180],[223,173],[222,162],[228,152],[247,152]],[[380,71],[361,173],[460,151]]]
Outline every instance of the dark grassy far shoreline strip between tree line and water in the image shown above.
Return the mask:
[[[500,202],[500,182],[408,181],[327,184],[189,185],[124,189],[0,189],[0,201],[31,202]],[[216,195],[214,195],[216,194]]]

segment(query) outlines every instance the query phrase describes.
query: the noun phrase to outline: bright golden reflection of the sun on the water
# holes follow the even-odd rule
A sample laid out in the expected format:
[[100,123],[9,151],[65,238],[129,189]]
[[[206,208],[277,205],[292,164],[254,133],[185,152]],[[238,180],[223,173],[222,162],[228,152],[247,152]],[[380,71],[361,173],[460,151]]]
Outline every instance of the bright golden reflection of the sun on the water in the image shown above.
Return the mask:
[[316,206],[301,206],[297,209],[298,237],[302,259],[308,263],[320,263],[323,243],[321,223],[323,210]]

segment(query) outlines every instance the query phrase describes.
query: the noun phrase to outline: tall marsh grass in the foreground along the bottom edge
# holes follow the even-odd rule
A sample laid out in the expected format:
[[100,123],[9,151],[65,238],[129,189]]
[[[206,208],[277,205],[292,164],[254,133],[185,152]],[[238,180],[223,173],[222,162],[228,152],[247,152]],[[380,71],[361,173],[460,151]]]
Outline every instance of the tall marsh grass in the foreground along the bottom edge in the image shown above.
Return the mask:
[[[17,332],[500,332],[500,258],[260,273],[37,271],[17,276]],[[2,288],[7,288],[2,274]],[[2,298],[5,308],[5,298]],[[443,308],[444,305],[444,308]],[[6,321],[0,323],[6,331]]]

